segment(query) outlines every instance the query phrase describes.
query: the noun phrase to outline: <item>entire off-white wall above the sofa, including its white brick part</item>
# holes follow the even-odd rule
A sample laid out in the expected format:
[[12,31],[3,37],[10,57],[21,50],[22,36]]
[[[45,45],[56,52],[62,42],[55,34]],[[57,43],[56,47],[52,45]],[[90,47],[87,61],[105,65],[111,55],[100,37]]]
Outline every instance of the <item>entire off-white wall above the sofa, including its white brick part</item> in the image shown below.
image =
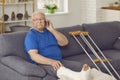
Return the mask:
[[[119,19],[118,11],[117,12],[114,11],[112,12],[112,14],[110,14],[113,16],[110,15],[108,16],[108,14],[101,9],[101,7],[108,6],[110,3],[113,3],[115,1],[118,0],[68,0],[69,2],[68,14],[47,15],[47,18],[53,22],[55,28],[69,27],[72,25],[77,25],[82,23],[107,21],[107,19],[111,20],[112,18],[113,18],[112,20],[118,20]],[[35,10],[37,9],[35,8]],[[32,26],[31,23],[28,24]],[[7,24],[7,25],[10,26],[13,24]]]

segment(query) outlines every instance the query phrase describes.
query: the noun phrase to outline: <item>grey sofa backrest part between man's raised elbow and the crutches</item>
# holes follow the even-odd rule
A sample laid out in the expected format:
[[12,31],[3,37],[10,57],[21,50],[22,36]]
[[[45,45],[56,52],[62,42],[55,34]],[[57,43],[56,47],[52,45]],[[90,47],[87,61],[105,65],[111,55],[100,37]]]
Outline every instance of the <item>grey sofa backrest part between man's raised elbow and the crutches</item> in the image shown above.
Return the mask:
[[[78,45],[78,43],[74,40],[74,38],[69,35],[70,31],[76,31],[76,30],[83,30],[83,29],[80,25],[58,29],[58,31],[62,32],[69,40],[67,46],[61,47],[63,58],[84,52],[82,48]],[[79,36],[78,39],[81,41],[81,38]]]

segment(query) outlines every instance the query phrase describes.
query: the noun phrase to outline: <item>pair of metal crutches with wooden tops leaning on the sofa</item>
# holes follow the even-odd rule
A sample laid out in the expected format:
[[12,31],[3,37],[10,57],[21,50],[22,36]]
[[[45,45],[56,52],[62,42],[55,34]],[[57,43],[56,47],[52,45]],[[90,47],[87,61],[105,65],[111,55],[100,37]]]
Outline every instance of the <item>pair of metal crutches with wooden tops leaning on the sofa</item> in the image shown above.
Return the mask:
[[[90,37],[90,35],[88,34],[88,32],[83,32],[83,31],[73,31],[73,32],[69,32],[70,35],[72,35],[75,40],[78,42],[78,44],[81,44],[80,41],[75,37],[77,35],[80,35],[80,37],[83,39],[83,41],[86,43],[86,45],[90,48],[90,50],[93,52],[93,54],[98,58],[95,60],[92,60],[92,62],[98,62],[100,61],[102,63],[102,65],[105,67],[105,69],[109,72],[109,74],[111,76],[113,76],[113,74],[110,72],[110,70],[107,68],[107,66],[104,64],[104,62],[108,62],[108,64],[110,65],[110,67],[113,69],[113,71],[116,73],[116,75],[120,78],[119,74],[117,73],[117,71],[114,69],[114,67],[110,64],[109,60],[104,56],[104,54],[102,53],[102,51],[98,48],[98,46],[95,44],[95,42],[93,41],[93,39]],[[97,54],[97,52],[94,50],[94,48],[91,46],[91,44],[88,42],[88,40],[86,39],[85,36],[88,36],[89,39],[92,41],[92,43],[95,45],[95,47],[98,49],[98,51],[101,53],[101,55],[104,57],[104,59],[101,59],[100,56]],[[81,45],[80,45],[81,46]],[[85,50],[84,50],[85,51]],[[88,52],[87,52],[88,53]],[[89,54],[87,54],[89,55]],[[90,55],[89,55],[90,56]],[[90,57],[89,57],[90,58]],[[92,58],[91,58],[92,59]],[[95,64],[95,63],[94,63]],[[96,64],[95,64],[96,66]],[[97,66],[98,67],[98,66]],[[99,67],[98,67],[99,68]],[[100,70],[100,69],[99,69]]]

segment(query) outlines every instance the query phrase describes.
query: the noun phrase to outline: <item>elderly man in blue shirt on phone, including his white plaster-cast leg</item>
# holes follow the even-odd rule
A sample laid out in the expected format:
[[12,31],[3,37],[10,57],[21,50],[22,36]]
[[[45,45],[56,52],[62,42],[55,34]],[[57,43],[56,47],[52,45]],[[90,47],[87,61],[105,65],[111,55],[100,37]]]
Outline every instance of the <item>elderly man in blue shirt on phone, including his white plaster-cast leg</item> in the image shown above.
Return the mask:
[[[67,45],[68,39],[53,27],[52,23],[46,19],[42,12],[33,13],[32,22],[33,27],[27,33],[24,42],[25,50],[28,53],[31,63],[42,66],[49,75],[54,77],[58,76],[61,80],[79,80],[80,78],[88,80],[90,79],[90,75],[94,77],[94,79],[91,80],[104,79],[96,77],[99,74],[103,74],[104,76],[104,73],[97,70],[92,70],[91,72],[89,66],[86,64],[82,67],[79,62],[62,59],[59,46]],[[82,68],[81,72],[80,68]],[[91,74],[89,74],[89,72]],[[98,73],[98,75],[96,73]],[[106,76],[109,77],[109,75]]]

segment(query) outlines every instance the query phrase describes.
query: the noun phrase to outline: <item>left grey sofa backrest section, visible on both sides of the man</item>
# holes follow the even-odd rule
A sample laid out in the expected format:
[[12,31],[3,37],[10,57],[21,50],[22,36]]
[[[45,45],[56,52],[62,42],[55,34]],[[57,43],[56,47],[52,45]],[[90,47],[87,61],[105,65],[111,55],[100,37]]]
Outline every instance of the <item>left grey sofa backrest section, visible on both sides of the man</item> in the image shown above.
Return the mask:
[[[69,40],[69,44],[64,47],[60,47],[63,57],[72,56],[80,53],[84,53],[78,43],[72,36],[69,35],[70,31],[82,30],[80,25],[57,28],[62,32]],[[0,35],[0,56],[16,55],[27,60],[27,54],[24,51],[24,38],[27,32],[13,32],[9,34]],[[80,37],[78,37],[81,40]],[[84,44],[83,44],[84,45]]]

